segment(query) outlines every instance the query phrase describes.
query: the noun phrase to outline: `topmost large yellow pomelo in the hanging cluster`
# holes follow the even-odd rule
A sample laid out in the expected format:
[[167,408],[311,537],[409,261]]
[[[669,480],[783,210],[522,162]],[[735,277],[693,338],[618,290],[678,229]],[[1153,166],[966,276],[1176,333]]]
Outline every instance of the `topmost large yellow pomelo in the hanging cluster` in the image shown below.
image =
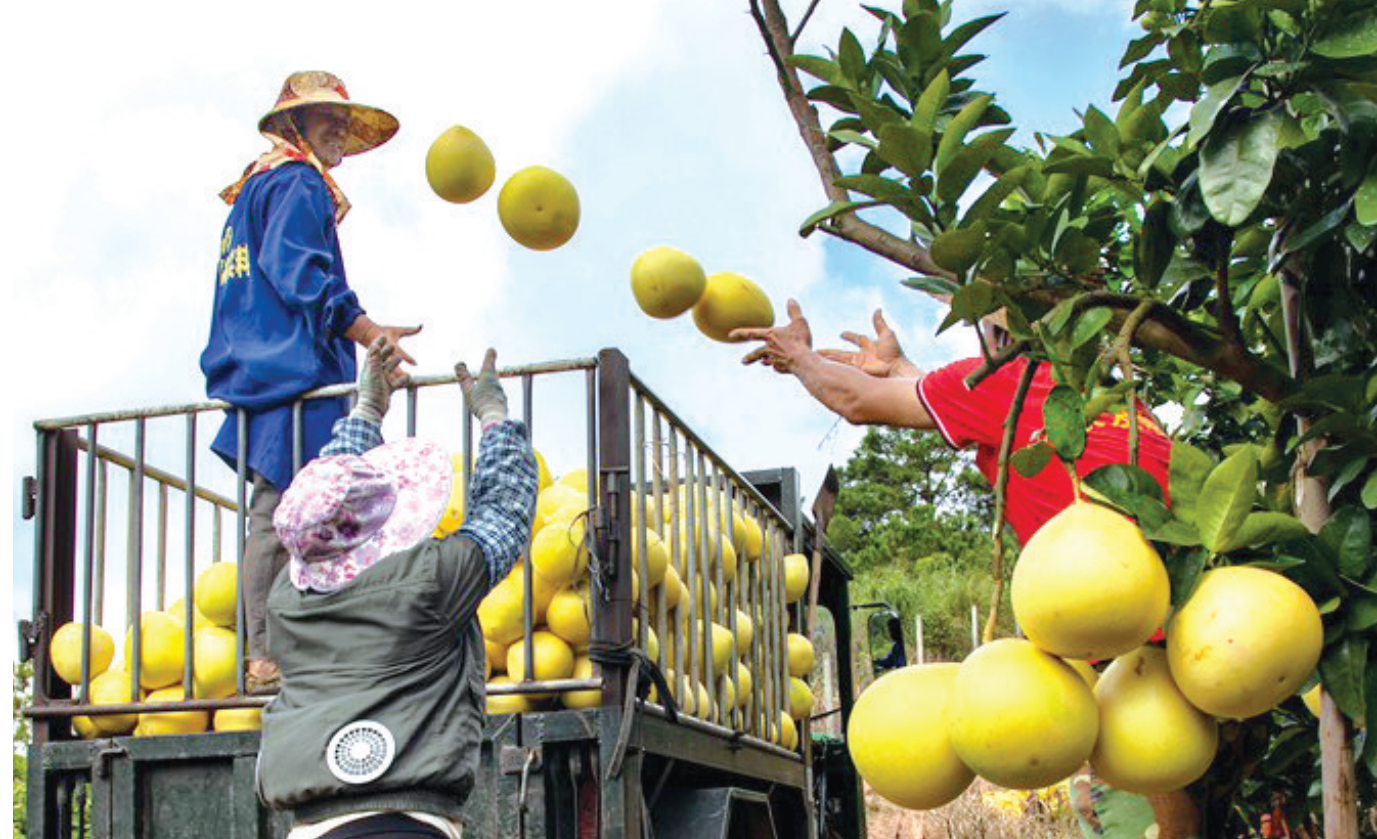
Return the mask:
[[1075,503],[1029,539],[1013,566],[1013,616],[1029,641],[1064,659],[1113,659],[1161,628],[1166,566],[1108,507]]

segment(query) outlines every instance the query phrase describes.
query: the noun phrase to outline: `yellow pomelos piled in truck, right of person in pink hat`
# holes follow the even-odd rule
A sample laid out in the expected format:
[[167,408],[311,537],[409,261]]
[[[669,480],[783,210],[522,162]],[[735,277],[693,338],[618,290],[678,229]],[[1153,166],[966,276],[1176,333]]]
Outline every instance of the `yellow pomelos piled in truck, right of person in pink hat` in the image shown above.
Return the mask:
[[[574,468],[559,479],[552,479],[543,457],[540,464],[540,493],[536,501],[536,517],[529,551],[532,563],[532,674],[534,681],[587,679],[593,674],[588,656],[592,636],[592,587],[589,581],[588,551],[588,473]],[[461,460],[456,462],[460,466]],[[457,484],[457,481],[456,481]],[[784,599],[795,602],[808,581],[808,565],[804,557],[792,554],[770,558],[766,550],[764,530],[760,522],[739,508],[734,508],[730,525],[727,517],[719,514],[715,500],[706,503],[706,517],[702,504],[694,499],[693,510],[697,522],[695,536],[706,547],[708,579],[688,572],[688,532],[684,526],[686,511],[690,507],[688,493],[679,488],[653,501],[642,493],[632,493],[632,598],[639,621],[647,620],[643,652],[651,660],[660,660],[664,643],[668,670],[664,674],[679,711],[700,719],[716,719],[726,723],[727,708],[741,709],[739,719],[746,719],[753,697],[760,694],[753,689],[752,650],[759,661],[764,661],[764,645],[770,643],[770,624],[761,612],[748,613],[738,608],[735,631],[727,616],[727,603],[719,605],[716,574],[720,570],[726,583],[731,583],[742,572],[741,562],[760,565],[774,563],[770,579],[782,588]],[[676,517],[675,510],[680,514]],[[642,548],[640,518],[646,517],[646,546]],[[706,521],[705,521],[706,519]],[[672,533],[673,522],[679,521],[677,533]],[[446,515],[442,530],[453,532],[463,522],[461,510]],[[706,526],[702,526],[706,525]],[[727,529],[730,528],[730,533]],[[716,539],[715,539],[716,537]],[[719,559],[720,557],[720,559]],[[646,591],[649,602],[640,602],[640,572],[646,569]],[[719,569],[720,563],[720,569]],[[478,621],[487,652],[487,679],[490,686],[515,685],[527,679],[523,563],[512,566],[505,579],[500,580],[478,606]],[[763,573],[763,572],[757,572]],[[690,580],[694,590],[690,591]],[[706,594],[704,594],[706,592]],[[702,602],[705,601],[706,602]],[[660,638],[660,609],[665,610],[665,638]],[[708,628],[704,628],[706,619]],[[799,726],[796,721],[811,712],[812,692],[804,678],[812,668],[812,645],[807,638],[785,632],[782,616],[777,616],[772,638],[778,654],[786,656],[789,683],[778,686],[778,725],[767,723],[764,715],[759,722],[760,732],[768,732],[767,738],[785,748],[797,745]],[[675,663],[683,657],[684,670],[691,670],[688,659],[690,634],[701,650],[701,661],[693,678],[687,672],[675,674]],[[638,635],[639,636],[639,635]],[[711,639],[711,643],[705,642]],[[711,653],[709,653],[711,649]],[[739,692],[738,692],[739,686]],[[567,708],[589,708],[600,704],[598,690],[573,690],[551,693],[489,693],[489,714],[516,714],[534,711],[551,704]],[[651,694],[651,701],[660,701]],[[744,723],[742,723],[744,725]]]

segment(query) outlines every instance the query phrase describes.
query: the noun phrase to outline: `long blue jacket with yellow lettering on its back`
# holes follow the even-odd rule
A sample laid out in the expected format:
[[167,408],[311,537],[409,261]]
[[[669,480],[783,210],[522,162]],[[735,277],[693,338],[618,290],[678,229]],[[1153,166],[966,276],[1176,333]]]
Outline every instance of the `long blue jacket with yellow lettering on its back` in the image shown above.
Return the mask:
[[[285,489],[292,479],[292,409],[300,394],[354,382],[344,331],[364,310],[344,277],[335,205],[319,172],[289,163],[255,175],[220,237],[211,338],[201,353],[207,394],[249,412],[248,466]],[[329,442],[347,400],[313,400],[303,412],[306,463]],[[231,467],[231,412],[211,445]]]

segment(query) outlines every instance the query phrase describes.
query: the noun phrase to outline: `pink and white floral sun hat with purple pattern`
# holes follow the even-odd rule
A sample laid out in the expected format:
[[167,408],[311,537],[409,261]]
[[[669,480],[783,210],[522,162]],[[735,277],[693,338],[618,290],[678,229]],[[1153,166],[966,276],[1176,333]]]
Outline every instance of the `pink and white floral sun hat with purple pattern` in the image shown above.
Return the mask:
[[292,584],[337,591],[379,559],[430,537],[454,467],[437,444],[408,438],[306,464],[273,514]]

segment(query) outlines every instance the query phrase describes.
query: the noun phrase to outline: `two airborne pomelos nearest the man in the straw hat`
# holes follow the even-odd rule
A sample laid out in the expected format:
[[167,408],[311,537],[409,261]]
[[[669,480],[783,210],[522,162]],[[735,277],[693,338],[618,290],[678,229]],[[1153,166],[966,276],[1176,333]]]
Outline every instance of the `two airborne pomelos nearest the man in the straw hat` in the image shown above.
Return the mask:
[[[452,204],[468,204],[493,185],[497,164],[481,136],[463,125],[446,128],[425,153],[425,180]],[[578,191],[559,172],[526,167],[497,194],[497,218],[518,244],[552,251],[578,230]]]

